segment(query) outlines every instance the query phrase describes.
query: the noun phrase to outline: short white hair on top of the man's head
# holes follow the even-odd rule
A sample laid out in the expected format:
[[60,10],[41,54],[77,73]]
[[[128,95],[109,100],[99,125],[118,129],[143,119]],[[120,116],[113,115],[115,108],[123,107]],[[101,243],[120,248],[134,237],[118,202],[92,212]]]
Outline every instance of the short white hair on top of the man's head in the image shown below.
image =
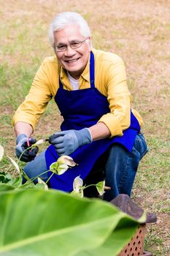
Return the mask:
[[82,36],[90,37],[88,23],[84,18],[82,18],[82,15],[77,12],[61,12],[55,16],[52,23],[50,23],[49,39],[52,46],[54,44],[54,32],[60,31],[70,24],[77,24],[80,26]]

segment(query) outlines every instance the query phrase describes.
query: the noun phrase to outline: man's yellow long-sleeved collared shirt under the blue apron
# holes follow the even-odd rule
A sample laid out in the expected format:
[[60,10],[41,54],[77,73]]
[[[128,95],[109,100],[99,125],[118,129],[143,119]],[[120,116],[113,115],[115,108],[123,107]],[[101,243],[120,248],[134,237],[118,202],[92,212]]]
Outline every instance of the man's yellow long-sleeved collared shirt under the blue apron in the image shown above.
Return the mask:
[[[107,97],[110,112],[98,121],[109,128],[111,137],[123,135],[123,130],[130,126],[131,95],[126,83],[125,65],[114,53],[93,49],[95,58],[95,86]],[[66,70],[58,64],[55,56],[47,57],[36,72],[31,89],[24,102],[13,116],[12,124],[23,121],[35,129],[36,122],[47,108],[47,103],[55,97],[59,87],[59,75],[63,89],[72,90]],[[89,60],[80,77],[80,90],[90,88]],[[142,127],[142,117],[136,110],[134,116]]]

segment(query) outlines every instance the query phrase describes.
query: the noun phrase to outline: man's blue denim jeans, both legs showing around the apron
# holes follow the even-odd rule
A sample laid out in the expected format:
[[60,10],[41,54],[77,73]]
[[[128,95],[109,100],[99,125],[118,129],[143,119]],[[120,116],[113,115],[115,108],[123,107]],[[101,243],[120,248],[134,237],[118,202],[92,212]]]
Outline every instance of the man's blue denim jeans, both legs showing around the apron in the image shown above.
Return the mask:
[[[132,151],[129,152],[119,143],[114,143],[93,166],[89,175],[85,178],[84,184],[96,184],[105,178],[106,186],[111,187],[104,193],[104,200],[110,201],[119,194],[131,196],[131,189],[134,184],[136,170],[139,166],[139,161],[148,151],[147,143],[144,140],[144,135],[136,135]],[[39,154],[33,161],[29,162],[24,167],[24,172],[29,178],[39,176],[47,170],[45,161],[45,151]],[[44,181],[47,181],[47,173],[39,176]],[[23,178],[23,183],[25,182]],[[37,179],[34,180],[37,182]],[[87,197],[95,197],[98,195],[95,187],[89,187],[84,190]]]

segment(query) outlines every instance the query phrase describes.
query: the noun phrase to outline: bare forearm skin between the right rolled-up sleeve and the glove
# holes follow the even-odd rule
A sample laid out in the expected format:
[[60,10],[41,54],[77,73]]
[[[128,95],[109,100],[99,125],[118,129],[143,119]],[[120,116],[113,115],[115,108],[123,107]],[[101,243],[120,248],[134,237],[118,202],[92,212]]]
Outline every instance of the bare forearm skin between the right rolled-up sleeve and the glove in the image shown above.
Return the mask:
[[109,128],[102,122],[98,122],[88,129],[93,140],[101,140],[110,136]]

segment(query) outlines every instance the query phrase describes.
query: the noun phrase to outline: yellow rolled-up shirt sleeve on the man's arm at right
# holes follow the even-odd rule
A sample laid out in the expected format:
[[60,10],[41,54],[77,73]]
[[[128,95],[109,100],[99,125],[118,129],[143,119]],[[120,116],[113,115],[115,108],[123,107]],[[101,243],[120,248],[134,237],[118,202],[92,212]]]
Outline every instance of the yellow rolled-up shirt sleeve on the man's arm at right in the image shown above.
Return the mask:
[[131,122],[131,95],[128,91],[125,65],[122,59],[117,56],[116,61],[109,64],[105,73],[110,113],[101,116],[99,122],[107,125],[111,137],[122,136],[123,130],[127,129]]

